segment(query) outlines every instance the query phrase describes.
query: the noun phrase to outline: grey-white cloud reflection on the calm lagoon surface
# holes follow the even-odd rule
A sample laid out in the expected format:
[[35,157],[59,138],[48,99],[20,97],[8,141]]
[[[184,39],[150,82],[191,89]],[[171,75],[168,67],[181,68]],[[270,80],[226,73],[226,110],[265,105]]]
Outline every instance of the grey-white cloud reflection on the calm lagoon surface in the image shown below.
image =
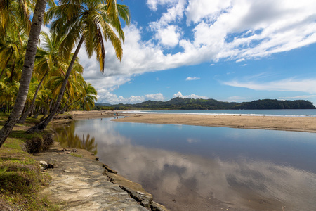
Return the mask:
[[[198,199],[204,198],[205,203],[216,198],[232,207],[254,210],[282,210],[282,206],[315,210],[316,174],[312,172],[244,156],[223,160],[140,146],[121,134],[117,122],[84,125],[84,121],[77,122],[76,132],[88,129],[93,134],[102,162],[142,184],[167,206],[175,199],[187,203],[190,210]],[[187,138],[185,142],[200,141]]]

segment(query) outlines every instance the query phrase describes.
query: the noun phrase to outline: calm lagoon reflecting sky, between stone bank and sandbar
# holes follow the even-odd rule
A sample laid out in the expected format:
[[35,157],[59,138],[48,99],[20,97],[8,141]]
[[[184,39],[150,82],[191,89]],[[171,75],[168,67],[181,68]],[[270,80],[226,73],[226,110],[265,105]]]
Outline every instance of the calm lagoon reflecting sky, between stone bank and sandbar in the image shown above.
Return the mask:
[[96,119],[59,137],[97,153],[170,210],[316,210],[316,133]]

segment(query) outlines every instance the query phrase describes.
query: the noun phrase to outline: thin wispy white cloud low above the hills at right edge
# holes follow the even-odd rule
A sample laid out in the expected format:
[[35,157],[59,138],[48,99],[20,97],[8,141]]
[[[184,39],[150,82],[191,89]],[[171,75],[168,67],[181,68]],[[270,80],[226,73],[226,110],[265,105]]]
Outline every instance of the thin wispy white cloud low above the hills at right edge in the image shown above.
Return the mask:
[[225,85],[232,87],[244,87],[254,90],[264,91],[303,91],[310,94],[316,94],[316,79],[282,79],[272,82],[239,82],[232,80],[230,82],[222,82]]

